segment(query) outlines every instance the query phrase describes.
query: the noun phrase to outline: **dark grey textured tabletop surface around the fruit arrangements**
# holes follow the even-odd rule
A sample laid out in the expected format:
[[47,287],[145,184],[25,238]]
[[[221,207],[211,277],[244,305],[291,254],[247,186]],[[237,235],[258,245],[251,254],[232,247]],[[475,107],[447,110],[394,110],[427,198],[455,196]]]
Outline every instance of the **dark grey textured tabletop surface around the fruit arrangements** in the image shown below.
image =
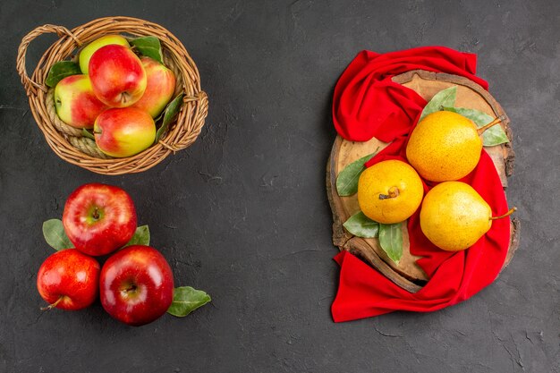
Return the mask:
[[[560,371],[560,3],[429,1],[3,1],[0,4],[0,372]],[[15,71],[34,27],[108,15],[155,21],[199,66],[199,140],[143,174],[64,163]],[[31,70],[55,36],[30,47]],[[444,45],[479,55],[512,121],[508,198],[522,242],[494,284],[450,309],[344,324],[329,307],[325,164],[335,81],[361,49]],[[129,191],[177,284],[213,301],[133,328],[96,303],[41,313],[41,224],[85,182]]]

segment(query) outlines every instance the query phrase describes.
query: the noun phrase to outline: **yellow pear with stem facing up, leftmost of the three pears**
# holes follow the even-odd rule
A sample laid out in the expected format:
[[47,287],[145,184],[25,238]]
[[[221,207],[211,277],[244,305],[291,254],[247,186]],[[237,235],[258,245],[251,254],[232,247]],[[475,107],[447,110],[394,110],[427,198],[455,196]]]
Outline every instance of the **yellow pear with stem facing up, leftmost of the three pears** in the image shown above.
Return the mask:
[[361,212],[378,223],[408,219],[420,207],[424,187],[411,165],[396,159],[367,168],[358,181]]

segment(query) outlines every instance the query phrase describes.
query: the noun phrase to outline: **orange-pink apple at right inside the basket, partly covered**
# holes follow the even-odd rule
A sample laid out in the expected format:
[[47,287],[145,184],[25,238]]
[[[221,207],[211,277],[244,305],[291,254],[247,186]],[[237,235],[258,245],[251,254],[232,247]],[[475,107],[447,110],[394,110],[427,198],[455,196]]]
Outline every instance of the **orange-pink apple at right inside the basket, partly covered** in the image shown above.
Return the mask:
[[149,57],[141,57],[148,83],[144,95],[134,104],[134,107],[145,110],[152,116],[157,117],[173,97],[175,91],[175,74]]

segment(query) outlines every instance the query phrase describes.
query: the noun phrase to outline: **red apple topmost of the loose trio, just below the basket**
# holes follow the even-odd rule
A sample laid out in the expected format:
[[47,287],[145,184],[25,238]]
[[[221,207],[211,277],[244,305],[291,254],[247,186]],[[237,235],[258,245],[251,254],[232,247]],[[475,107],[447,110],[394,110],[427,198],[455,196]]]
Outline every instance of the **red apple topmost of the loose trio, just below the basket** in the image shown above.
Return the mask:
[[106,255],[131,240],[136,209],[121,188],[85,184],[66,199],[63,225],[76,249],[92,256]]

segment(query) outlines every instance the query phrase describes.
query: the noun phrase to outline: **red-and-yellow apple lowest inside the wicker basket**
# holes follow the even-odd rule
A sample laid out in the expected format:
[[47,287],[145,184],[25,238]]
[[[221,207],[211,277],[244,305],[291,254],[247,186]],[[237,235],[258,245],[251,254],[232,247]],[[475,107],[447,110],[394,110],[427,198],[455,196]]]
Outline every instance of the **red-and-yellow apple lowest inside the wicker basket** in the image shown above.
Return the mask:
[[107,156],[130,157],[154,143],[156,123],[136,107],[111,108],[98,115],[93,134]]

